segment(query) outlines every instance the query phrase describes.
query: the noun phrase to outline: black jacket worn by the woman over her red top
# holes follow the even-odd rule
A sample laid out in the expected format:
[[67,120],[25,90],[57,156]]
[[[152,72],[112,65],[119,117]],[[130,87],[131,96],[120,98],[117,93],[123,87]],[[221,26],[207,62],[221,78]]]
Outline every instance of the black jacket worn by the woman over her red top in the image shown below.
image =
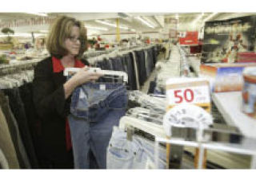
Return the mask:
[[66,151],[66,117],[70,114],[70,97],[65,100],[65,82],[63,71],[53,72],[51,57],[40,61],[34,68],[33,97],[41,123],[42,155],[46,165],[53,168],[73,167],[72,151]]

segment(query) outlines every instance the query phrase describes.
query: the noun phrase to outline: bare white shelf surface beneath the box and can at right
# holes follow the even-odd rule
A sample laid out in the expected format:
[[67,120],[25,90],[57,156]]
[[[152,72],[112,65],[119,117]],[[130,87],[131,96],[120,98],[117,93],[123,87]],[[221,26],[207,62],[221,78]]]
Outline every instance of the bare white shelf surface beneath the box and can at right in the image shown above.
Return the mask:
[[213,93],[212,98],[228,125],[238,127],[246,137],[256,138],[256,119],[242,113],[242,92]]

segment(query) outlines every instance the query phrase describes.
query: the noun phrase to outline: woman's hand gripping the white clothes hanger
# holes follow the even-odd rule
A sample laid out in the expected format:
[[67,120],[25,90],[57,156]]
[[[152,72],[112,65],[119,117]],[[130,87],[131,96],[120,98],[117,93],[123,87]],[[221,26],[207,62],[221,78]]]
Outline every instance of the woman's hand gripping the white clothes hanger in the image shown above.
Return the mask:
[[89,68],[81,68],[71,79],[74,80],[76,86],[85,84],[90,81],[98,80],[99,77],[103,76],[102,74],[96,72],[88,72]]

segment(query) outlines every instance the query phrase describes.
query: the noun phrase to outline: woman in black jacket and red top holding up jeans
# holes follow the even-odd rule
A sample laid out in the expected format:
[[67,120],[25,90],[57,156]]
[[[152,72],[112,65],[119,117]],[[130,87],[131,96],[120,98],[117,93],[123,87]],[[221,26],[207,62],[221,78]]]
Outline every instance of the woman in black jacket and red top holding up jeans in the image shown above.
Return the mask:
[[[86,51],[86,29],[82,22],[58,18],[50,29],[46,47],[51,56],[38,63],[33,82],[34,105],[41,126],[41,164],[46,168],[74,168],[66,120],[70,114],[70,95],[77,86],[98,80],[101,75],[86,72],[87,68],[78,60]],[[82,69],[66,80],[63,70],[69,67]]]

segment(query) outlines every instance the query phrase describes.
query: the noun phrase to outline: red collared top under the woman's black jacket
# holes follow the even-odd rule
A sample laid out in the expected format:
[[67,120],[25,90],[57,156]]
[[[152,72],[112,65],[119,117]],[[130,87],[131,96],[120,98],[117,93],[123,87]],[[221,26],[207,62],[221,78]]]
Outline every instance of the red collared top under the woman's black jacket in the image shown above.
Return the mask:
[[[61,60],[57,59],[56,57],[52,57],[52,62],[53,62],[54,72],[62,72],[64,70]],[[79,61],[78,59],[74,60],[75,68],[82,68],[84,66],[85,65],[82,63],[82,61]],[[71,135],[70,135],[70,124],[66,118],[66,150],[70,151],[71,148],[72,148],[72,143],[71,143]]]

